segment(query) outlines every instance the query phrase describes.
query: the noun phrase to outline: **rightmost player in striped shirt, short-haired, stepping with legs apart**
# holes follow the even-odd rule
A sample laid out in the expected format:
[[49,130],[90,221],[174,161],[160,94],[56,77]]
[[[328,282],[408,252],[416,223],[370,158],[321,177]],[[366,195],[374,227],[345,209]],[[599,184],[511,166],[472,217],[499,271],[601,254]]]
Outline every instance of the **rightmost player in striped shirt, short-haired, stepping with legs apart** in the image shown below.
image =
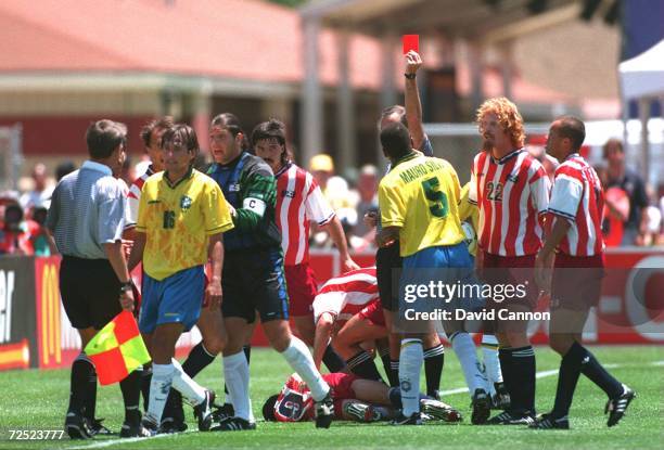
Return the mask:
[[588,311],[599,301],[604,275],[604,194],[595,169],[578,154],[585,138],[584,123],[575,117],[561,117],[549,130],[547,152],[561,165],[556,169],[549,203],[552,230],[535,267],[540,287],[551,288],[550,345],[562,361],[553,410],[538,416],[531,428],[570,428],[567,413],[582,373],[609,396],[604,411],[610,413],[609,426],[618,423],[636,396],[580,344]]

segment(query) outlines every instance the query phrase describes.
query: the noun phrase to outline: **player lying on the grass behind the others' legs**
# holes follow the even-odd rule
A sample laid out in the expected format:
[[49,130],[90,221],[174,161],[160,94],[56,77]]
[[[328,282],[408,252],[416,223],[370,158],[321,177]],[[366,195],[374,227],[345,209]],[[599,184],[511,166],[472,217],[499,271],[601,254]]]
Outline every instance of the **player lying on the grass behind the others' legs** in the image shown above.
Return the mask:
[[[332,388],[334,419],[339,421],[393,420],[403,408],[398,387],[348,373],[329,373],[323,375],[323,380]],[[263,406],[263,416],[266,421],[277,422],[309,421],[314,417],[312,403],[308,386],[297,374],[293,374],[281,393],[267,399]],[[420,394],[420,408],[426,420],[461,422],[459,411],[424,394]]]

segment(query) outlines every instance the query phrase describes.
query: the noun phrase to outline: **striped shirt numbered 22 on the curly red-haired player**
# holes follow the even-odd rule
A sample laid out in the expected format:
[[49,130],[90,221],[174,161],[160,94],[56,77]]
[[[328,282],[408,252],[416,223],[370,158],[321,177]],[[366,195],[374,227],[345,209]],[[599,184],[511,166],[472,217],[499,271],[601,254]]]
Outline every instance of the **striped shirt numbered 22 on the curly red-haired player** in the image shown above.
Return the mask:
[[469,201],[480,209],[480,247],[500,256],[536,254],[542,244],[540,216],[549,207],[549,190],[544,167],[524,149],[500,159],[480,152],[469,192]]

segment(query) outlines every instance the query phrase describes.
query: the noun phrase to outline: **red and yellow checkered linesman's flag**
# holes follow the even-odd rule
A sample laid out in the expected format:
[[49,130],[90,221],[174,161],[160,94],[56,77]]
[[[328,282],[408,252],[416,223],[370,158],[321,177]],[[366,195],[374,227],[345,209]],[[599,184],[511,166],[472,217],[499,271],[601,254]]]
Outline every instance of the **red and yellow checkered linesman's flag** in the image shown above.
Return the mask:
[[101,329],[85,351],[94,363],[102,385],[120,382],[150,361],[136,319],[129,311],[120,312]]

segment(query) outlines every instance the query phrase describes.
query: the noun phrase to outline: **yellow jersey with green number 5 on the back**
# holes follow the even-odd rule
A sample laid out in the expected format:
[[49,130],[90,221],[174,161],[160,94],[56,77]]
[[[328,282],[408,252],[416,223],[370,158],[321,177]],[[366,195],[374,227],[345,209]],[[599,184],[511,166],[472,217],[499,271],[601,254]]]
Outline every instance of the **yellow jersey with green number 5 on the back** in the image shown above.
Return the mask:
[[421,154],[406,156],[383,177],[379,184],[381,223],[399,228],[403,257],[463,241],[460,190],[448,162]]

